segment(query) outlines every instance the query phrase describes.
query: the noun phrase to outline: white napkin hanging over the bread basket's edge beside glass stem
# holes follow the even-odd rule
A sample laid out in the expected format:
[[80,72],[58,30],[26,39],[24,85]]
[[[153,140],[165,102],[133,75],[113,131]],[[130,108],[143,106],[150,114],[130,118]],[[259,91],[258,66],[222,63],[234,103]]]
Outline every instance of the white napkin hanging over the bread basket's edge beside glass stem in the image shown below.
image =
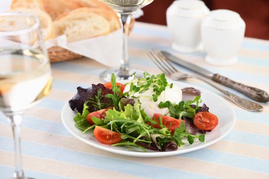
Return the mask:
[[119,66],[122,58],[122,32],[117,30],[108,35],[75,42],[67,42],[66,35],[46,41],[46,47],[59,46],[79,55],[94,59],[107,66]]

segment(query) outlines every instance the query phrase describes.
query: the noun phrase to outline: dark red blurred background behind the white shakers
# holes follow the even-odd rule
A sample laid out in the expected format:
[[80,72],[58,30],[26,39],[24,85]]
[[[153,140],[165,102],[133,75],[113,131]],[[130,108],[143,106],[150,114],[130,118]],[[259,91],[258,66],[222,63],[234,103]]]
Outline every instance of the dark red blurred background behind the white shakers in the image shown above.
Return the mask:
[[[269,40],[269,0],[203,0],[210,10],[230,9],[238,12],[246,24],[245,36]],[[165,11],[173,0],[154,0],[143,8],[138,21],[166,25]]]

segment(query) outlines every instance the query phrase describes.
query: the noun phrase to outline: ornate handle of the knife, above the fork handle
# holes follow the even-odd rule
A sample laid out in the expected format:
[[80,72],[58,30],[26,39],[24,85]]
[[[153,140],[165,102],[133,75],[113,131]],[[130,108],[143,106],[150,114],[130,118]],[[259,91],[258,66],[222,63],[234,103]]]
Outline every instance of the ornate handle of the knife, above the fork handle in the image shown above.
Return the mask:
[[242,83],[233,81],[227,77],[221,76],[220,74],[214,74],[213,81],[223,84],[224,86],[236,89],[236,91],[243,93],[244,95],[259,102],[268,102],[269,95],[265,91],[256,87],[244,85]]

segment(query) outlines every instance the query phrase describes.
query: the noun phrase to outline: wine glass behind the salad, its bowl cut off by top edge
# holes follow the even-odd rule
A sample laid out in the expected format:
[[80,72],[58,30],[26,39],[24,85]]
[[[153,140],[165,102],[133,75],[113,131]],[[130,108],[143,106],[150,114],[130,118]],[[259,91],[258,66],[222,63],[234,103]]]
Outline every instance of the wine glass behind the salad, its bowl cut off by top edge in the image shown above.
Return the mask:
[[105,81],[110,81],[111,74],[114,73],[117,80],[129,79],[133,73],[136,73],[138,78],[143,76],[143,71],[139,69],[130,68],[129,56],[128,56],[128,31],[131,21],[131,16],[138,9],[149,5],[153,0],[100,0],[103,3],[114,9],[121,21],[121,27],[123,31],[123,43],[122,43],[122,59],[119,69],[108,69],[101,74],[101,78]]

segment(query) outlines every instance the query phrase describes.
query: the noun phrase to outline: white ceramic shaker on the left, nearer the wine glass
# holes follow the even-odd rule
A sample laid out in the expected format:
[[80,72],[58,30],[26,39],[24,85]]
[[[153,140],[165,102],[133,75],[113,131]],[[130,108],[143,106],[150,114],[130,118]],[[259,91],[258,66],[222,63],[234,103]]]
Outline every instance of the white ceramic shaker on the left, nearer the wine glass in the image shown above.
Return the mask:
[[167,25],[174,43],[172,48],[191,53],[201,48],[200,26],[208,7],[199,0],[178,0],[167,9]]

